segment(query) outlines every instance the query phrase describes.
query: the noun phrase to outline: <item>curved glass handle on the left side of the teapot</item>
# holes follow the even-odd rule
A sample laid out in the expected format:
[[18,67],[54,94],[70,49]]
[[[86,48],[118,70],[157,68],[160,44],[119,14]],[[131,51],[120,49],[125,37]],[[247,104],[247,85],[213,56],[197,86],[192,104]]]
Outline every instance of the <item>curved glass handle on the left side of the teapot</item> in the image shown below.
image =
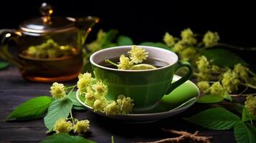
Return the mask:
[[22,63],[16,59],[11,53],[9,52],[9,41],[11,39],[19,39],[22,36],[20,31],[16,31],[15,29],[1,29],[0,30],[0,58],[6,61],[9,61],[14,66],[19,67],[20,69],[23,67]]

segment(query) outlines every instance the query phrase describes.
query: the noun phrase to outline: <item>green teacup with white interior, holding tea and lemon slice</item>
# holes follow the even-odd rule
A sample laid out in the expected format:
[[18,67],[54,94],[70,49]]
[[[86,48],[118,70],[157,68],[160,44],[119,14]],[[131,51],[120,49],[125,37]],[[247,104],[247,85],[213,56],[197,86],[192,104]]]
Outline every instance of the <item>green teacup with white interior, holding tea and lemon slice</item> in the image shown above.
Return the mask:
[[[156,107],[163,95],[186,82],[192,75],[191,64],[179,62],[178,56],[169,50],[153,46],[141,46],[148,51],[148,59],[156,60],[157,69],[122,70],[105,66],[105,59],[117,59],[121,54],[127,54],[131,46],[116,46],[95,52],[90,56],[95,77],[108,85],[108,98],[116,99],[118,95],[131,97],[134,100],[134,112],[146,112]],[[151,60],[152,61],[152,60]],[[171,83],[174,73],[181,66],[189,71],[178,81]]]

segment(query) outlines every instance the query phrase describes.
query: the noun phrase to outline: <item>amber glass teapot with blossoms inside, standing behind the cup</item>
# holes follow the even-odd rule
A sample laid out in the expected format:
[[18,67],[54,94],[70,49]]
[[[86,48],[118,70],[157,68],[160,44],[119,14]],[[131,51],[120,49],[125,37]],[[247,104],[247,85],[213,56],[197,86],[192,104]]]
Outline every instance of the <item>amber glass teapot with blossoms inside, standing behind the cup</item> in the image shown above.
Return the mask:
[[[0,30],[0,57],[19,68],[24,79],[35,82],[61,82],[75,79],[82,70],[85,39],[98,17],[51,16],[52,6],[43,3],[42,17],[24,21],[19,29]],[[8,42],[16,43],[17,54],[9,52]]]

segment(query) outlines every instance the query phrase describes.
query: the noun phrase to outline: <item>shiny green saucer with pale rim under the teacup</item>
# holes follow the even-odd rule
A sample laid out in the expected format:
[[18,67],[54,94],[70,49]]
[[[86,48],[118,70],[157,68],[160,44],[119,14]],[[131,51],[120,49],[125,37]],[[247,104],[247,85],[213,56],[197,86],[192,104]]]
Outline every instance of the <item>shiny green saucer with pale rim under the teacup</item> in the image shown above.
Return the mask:
[[[181,77],[174,75],[173,81],[180,79]],[[116,114],[116,115],[106,115],[102,112],[95,112],[100,114],[103,117],[108,117],[112,119],[119,119],[125,122],[151,122],[159,119],[164,119],[167,117],[172,117],[176,114],[184,112],[186,109],[189,109],[196,100],[199,98],[199,89],[196,85],[187,81],[181,86],[174,89],[171,94],[165,95],[161,101],[156,105],[154,109],[151,109],[148,112],[136,113],[132,112],[131,114]],[[85,98],[80,97],[77,90],[77,100],[87,109],[93,112],[93,108],[85,104]]]

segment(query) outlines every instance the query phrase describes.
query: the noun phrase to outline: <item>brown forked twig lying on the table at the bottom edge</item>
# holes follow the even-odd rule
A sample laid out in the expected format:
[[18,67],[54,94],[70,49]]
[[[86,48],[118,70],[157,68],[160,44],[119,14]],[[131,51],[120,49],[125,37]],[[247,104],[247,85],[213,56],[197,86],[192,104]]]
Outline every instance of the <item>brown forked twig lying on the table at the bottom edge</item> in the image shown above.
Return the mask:
[[172,137],[167,139],[161,139],[155,142],[140,142],[140,143],[181,143],[181,142],[200,142],[200,143],[210,143],[212,137],[202,137],[199,136],[199,132],[196,131],[194,134],[184,131],[176,131],[174,129],[163,129],[164,132],[169,132],[171,134],[179,135],[179,137]]

